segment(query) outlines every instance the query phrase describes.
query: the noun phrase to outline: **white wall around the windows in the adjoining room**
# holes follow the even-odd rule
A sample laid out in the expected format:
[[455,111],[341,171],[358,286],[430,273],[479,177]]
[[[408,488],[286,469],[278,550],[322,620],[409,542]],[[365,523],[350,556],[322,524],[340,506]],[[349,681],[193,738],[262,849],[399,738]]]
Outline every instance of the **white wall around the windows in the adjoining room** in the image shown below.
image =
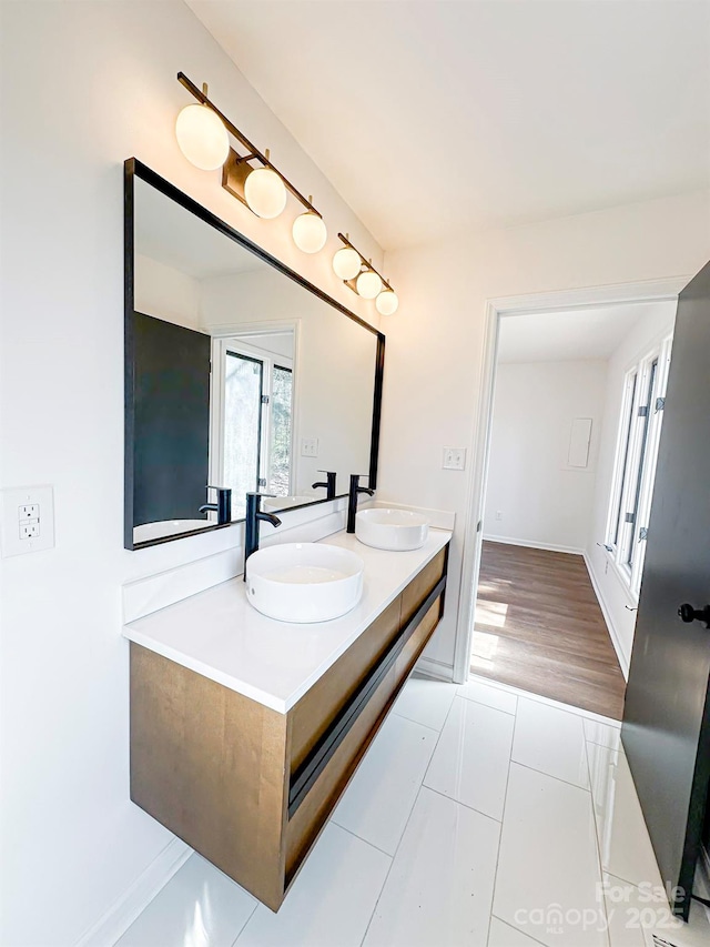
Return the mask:
[[629,671],[637,615],[636,611],[629,609],[636,608],[638,603],[631,595],[628,585],[621,581],[611,556],[604,548],[621,415],[623,380],[632,365],[637,364],[641,357],[667,338],[672,330],[674,320],[674,303],[645,310],[643,318],[632,328],[609,360],[607,374],[599,447],[599,473],[595,491],[591,533],[587,544],[587,565],[625,675]]

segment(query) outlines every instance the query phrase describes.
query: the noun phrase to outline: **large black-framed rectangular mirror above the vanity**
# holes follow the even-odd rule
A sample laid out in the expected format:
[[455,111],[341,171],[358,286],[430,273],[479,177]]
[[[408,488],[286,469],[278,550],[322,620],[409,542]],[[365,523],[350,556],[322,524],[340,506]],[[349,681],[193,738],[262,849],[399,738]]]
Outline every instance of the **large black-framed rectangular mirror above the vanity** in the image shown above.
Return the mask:
[[[376,486],[384,335],[125,162],[125,547]],[[229,525],[229,523],[226,524]]]

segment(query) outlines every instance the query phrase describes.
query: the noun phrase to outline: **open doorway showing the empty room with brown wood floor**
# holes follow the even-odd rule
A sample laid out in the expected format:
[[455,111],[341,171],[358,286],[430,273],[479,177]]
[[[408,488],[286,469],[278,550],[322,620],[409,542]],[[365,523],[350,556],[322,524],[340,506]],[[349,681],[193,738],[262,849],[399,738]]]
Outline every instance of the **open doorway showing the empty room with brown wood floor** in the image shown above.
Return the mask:
[[677,304],[648,289],[489,305],[464,679],[621,717]]

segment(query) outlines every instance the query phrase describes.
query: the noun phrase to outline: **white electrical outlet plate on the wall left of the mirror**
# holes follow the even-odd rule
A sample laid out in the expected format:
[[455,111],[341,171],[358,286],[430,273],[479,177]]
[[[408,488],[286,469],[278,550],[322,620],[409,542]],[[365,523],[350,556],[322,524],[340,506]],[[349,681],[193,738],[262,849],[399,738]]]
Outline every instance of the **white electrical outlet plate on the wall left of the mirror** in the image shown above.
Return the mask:
[[24,553],[39,553],[53,547],[54,491],[51,486],[18,486],[2,490],[0,501],[2,503],[3,558],[20,556]]

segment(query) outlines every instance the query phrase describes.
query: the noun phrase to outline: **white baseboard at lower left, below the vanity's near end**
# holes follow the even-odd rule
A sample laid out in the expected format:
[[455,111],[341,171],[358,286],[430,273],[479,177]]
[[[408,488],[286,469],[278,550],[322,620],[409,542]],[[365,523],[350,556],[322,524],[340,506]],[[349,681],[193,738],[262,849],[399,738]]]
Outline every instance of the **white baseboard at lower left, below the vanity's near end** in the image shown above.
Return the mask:
[[75,947],[111,947],[115,944],[191,855],[192,848],[184,842],[171,839],[128,890],[83,934]]

